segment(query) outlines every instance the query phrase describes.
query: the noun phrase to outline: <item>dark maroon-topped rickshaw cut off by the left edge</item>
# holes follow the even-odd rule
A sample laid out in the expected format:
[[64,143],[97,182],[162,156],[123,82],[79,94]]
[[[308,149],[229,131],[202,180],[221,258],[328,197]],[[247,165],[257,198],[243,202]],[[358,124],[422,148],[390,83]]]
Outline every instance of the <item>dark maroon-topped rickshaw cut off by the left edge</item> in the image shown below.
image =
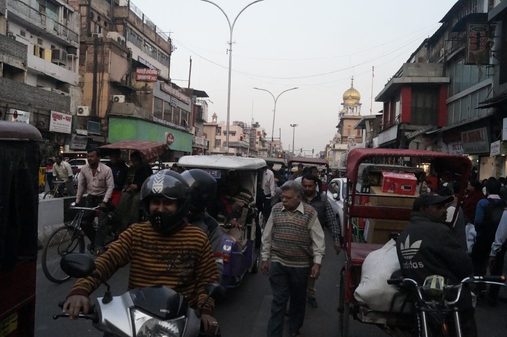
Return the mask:
[[0,335],[33,336],[39,216],[35,127],[0,121]]

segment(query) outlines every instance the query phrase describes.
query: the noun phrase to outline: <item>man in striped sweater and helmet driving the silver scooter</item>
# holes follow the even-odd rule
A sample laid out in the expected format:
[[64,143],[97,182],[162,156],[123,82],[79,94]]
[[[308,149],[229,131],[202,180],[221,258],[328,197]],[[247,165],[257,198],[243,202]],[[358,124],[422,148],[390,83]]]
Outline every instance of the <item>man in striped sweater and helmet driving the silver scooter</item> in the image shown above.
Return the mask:
[[[183,178],[164,171],[144,181],[141,200],[149,222],[132,224],[95,260],[100,278],[108,280],[130,263],[129,290],[163,284],[185,296],[190,307],[201,307],[205,285],[218,280],[218,270],[206,235],[186,221],[189,194]],[[76,282],[63,306],[71,319],[89,310],[88,296],[99,285],[94,277]],[[213,301],[208,300],[201,311],[201,328],[209,334],[219,329],[212,309]]]

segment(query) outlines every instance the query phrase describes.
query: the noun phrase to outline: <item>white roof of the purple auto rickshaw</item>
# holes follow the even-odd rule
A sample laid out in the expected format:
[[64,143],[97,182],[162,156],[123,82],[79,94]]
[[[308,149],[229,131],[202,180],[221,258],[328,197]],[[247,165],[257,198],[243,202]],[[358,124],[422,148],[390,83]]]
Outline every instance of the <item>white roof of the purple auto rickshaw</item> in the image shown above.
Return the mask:
[[178,160],[178,166],[216,168],[225,170],[257,170],[266,166],[266,161],[260,158],[246,158],[236,156],[184,156]]

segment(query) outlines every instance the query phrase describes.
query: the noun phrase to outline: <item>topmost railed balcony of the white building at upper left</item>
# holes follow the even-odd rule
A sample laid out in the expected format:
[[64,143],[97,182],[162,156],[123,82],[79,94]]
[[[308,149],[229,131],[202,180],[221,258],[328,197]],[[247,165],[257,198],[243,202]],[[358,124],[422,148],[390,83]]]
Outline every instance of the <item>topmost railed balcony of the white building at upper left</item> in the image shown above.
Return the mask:
[[8,0],[9,19],[21,21],[24,27],[53,38],[65,45],[79,47],[79,35],[46,14],[39,12],[20,0]]

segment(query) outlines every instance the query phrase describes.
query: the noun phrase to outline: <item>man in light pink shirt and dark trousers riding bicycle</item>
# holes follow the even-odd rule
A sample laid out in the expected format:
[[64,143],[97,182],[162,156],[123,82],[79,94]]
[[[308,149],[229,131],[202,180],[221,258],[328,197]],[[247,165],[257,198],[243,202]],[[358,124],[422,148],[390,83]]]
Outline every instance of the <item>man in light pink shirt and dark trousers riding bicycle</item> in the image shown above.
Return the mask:
[[98,148],[90,148],[86,156],[88,164],[81,168],[78,178],[78,195],[76,203],[81,202],[81,198],[86,190],[86,207],[93,208],[100,206],[101,212],[98,213],[97,231],[93,228],[93,219],[95,213],[88,212],[83,216],[82,228],[91,243],[91,251],[95,255],[100,255],[105,250],[105,239],[107,236],[108,216],[103,211],[111,210],[111,195],[115,188],[115,181],[111,168],[100,162],[100,152]]

